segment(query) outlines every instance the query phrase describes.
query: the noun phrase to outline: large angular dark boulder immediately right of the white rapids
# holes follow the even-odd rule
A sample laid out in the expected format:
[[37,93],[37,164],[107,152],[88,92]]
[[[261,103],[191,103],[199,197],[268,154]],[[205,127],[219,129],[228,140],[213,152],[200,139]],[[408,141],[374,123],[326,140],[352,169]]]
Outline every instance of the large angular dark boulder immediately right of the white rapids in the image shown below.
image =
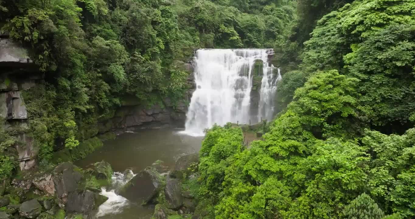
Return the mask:
[[147,167],[120,189],[120,195],[133,202],[150,202],[161,189],[163,180],[154,169]]

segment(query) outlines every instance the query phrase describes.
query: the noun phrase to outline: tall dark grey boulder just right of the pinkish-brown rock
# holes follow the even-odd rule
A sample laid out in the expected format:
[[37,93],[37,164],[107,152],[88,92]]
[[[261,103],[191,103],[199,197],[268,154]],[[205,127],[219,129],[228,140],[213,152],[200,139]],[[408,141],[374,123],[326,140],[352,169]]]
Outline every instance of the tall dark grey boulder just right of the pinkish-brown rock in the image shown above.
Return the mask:
[[54,169],[53,182],[60,207],[65,206],[68,194],[78,188],[82,178],[78,167],[69,162],[61,163]]

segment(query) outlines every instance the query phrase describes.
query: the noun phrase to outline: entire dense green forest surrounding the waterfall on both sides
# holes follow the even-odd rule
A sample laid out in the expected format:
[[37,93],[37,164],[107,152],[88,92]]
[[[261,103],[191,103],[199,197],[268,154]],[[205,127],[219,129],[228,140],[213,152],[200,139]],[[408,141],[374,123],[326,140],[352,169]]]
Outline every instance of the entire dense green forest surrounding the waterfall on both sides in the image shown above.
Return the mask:
[[[205,217],[415,217],[414,0],[0,0],[0,27],[45,75],[27,94],[42,165],[123,95],[181,99],[174,61],[194,48],[273,48],[280,112],[263,140],[206,132],[189,182]],[[16,141],[0,130],[0,179]]]

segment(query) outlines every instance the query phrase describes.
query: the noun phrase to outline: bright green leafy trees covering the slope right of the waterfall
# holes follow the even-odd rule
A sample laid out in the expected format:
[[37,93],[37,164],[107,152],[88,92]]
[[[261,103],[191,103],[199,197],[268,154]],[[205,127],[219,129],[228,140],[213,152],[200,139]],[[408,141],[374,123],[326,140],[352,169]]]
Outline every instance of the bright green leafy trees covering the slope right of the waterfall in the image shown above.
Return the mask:
[[[215,197],[210,217],[415,217],[415,2],[298,3],[298,20],[276,41],[277,62],[290,71],[270,131],[203,164],[222,163],[209,173],[216,190],[202,193]],[[222,133],[206,138],[233,138]]]

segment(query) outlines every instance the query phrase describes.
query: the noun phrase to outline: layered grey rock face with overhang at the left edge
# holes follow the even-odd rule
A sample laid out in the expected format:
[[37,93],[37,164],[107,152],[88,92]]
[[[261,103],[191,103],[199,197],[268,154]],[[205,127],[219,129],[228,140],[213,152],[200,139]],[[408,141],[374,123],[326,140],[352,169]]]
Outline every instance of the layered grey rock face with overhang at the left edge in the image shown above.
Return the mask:
[[18,130],[17,161],[21,170],[27,170],[35,165],[38,149],[32,144],[32,137],[25,133],[28,117],[23,91],[43,83],[43,77],[36,71],[27,50],[7,38],[0,38],[0,68],[0,117],[7,120],[6,129]]

